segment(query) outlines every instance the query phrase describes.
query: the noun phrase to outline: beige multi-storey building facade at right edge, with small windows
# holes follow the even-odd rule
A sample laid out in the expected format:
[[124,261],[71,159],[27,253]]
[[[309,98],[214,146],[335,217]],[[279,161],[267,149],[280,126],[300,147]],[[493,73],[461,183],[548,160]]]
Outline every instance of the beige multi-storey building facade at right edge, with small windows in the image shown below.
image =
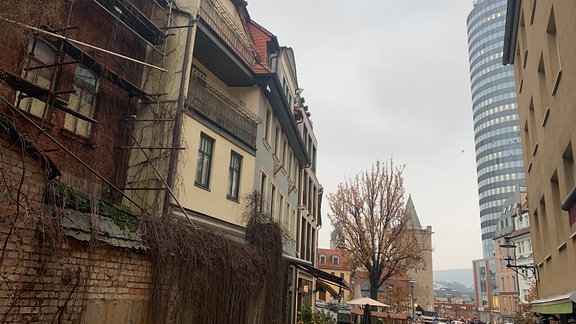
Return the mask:
[[571,311],[576,293],[576,224],[561,208],[576,175],[574,17],[574,1],[509,1],[504,63],[515,70],[540,312]]

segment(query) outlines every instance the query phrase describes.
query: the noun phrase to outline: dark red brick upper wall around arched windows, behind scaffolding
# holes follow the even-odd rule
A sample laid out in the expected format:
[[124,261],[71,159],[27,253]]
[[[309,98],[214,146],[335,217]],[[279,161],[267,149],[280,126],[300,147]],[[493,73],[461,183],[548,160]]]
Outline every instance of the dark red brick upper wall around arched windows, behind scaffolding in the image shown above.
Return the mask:
[[[150,6],[152,1],[129,1],[134,2],[137,7],[144,4]],[[146,51],[145,44],[139,40],[132,31],[129,31],[123,24],[106,13],[94,1],[66,1],[65,5],[58,11],[61,23],[42,22],[42,25],[51,25],[59,29],[67,19],[68,26],[71,26],[67,36],[71,39],[80,40],[93,46],[106,49],[113,53],[119,53],[135,59],[144,59]],[[21,17],[22,18],[22,17]],[[22,18],[24,19],[24,18]],[[28,23],[28,21],[23,21]],[[40,23],[38,24],[40,25]],[[32,35],[32,30],[16,27],[14,24],[0,22],[0,27],[7,30],[14,30],[12,33],[5,33],[0,36],[0,69],[21,75],[26,57],[28,39]],[[47,37],[50,39],[49,37]],[[46,39],[45,39],[46,40]],[[58,44],[54,42],[54,47]],[[133,114],[137,106],[137,99],[130,99],[129,94],[109,81],[105,75],[108,71],[113,71],[124,80],[139,85],[142,78],[142,65],[119,58],[117,56],[104,53],[95,49],[82,47],[82,49],[94,57],[102,69],[105,70],[98,78],[98,90],[96,93],[96,104],[94,115],[98,122],[92,125],[91,133],[84,138],[69,132],[64,127],[66,113],[53,108],[50,110],[48,118],[37,118],[32,114],[27,114],[34,123],[40,125],[53,138],[58,140],[67,149],[72,151],[82,161],[87,163],[98,174],[112,182],[117,187],[124,187],[126,181],[126,167],[128,163],[129,151],[119,149],[129,143],[130,123],[126,122],[126,117]],[[62,55],[59,53],[59,55]],[[76,59],[64,55],[64,62],[74,62]],[[63,64],[58,67],[58,78],[55,82],[55,91],[60,92],[60,97],[68,101],[70,95],[66,93],[73,89],[74,64]],[[87,68],[92,68],[88,66]],[[0,96],[8,102],[16,103],[16,89],[0,83]],[[6,111],[8,115],[15,116],[10,109],[0,103],[0,111]],[[94,176],[86,167],[81,165],[70,155],[64,153],[62,148],[54,144],[46,135],[39,132],[30,122],[25,121],[16,115],[13,122],[21,134],[26,135],[34,145],[45,152],[47,156],[58,165],[60,171],[66,174],[74,183],[70,185],[81,185],[83,181],[89,181],[91,186],[82,186],[79,189],[93,194],[106,191],[100,186],[103,181]],[[79,180],[76,180],[79,179]]]

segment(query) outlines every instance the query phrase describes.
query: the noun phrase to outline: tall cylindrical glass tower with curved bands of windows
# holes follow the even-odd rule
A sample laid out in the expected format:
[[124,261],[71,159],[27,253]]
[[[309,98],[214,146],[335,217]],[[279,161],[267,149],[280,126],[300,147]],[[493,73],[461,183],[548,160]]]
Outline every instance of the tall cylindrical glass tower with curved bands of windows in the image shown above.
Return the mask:
[[526,190],[512,65],[502,65],[506,0],[475,1],[468,15],[468,51],[480,226],[484,258],[494,256],[502,204]]

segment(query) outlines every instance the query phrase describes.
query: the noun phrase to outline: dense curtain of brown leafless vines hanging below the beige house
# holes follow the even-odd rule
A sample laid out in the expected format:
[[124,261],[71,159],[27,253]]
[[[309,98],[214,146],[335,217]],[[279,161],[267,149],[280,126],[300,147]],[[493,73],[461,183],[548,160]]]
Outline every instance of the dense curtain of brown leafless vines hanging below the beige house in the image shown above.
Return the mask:
[[282,230],[246,200],[247,244],[174,217],[145,222],[150,323],[284,323]]

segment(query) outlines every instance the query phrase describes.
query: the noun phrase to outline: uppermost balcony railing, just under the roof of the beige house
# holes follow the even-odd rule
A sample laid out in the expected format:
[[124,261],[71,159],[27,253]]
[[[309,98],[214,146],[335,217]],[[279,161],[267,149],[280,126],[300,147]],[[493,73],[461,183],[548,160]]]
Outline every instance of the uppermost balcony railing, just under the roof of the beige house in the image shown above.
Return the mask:
[[200,1],[200,18],[204,20],[250,67],[256,64],[256,50],[245,32],[218,0]]

